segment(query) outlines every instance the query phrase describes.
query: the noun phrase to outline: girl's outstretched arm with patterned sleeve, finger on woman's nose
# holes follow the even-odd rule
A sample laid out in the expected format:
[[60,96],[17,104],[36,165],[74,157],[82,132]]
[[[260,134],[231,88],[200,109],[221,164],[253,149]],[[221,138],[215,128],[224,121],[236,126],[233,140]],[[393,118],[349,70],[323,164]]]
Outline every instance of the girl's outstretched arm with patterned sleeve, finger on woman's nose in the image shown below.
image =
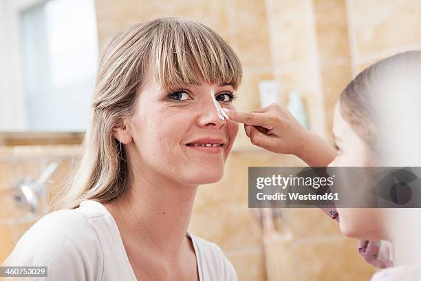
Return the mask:
[[[252,144],[280,154],[294,154],[311,167],[326,167],[334,160],[336,149],[305,129],[281,105],[274,103],[255,112],[226,111],[230,120],[244,123]],[[330,218],[339,221],[335,208],[322,208]],[[385,241],[360,240],[358,252],[378,268],[394,264],[393,247]]]

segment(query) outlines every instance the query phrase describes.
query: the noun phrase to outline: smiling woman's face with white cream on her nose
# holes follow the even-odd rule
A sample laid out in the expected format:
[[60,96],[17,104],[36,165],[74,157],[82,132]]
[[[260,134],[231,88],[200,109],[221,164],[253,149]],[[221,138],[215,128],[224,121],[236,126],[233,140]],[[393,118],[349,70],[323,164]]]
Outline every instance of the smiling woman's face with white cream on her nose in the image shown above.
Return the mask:
[[220,180],[238,124],[218,117],[211,91],[222,107],[234,109],[231,85],[202,83],[166,92],[150,74],[138,89],[131,118],[131,167],[182,185]]

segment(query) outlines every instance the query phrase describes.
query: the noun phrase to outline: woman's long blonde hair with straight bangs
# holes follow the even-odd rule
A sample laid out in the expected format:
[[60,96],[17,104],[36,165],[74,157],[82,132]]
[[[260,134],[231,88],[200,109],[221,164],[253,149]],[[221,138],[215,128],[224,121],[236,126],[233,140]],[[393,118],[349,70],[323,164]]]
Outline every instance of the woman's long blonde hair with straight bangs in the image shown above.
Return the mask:
[[147,75],[165,90],[202,82],[236,90],[241,64],[218,34],[194,21],[155,19],[116,34],[100,56],[83,154],[57,209],[72,209],[89,199],[111,202],[127,191],[132,171],[113,130],[133,115],[137,90]]

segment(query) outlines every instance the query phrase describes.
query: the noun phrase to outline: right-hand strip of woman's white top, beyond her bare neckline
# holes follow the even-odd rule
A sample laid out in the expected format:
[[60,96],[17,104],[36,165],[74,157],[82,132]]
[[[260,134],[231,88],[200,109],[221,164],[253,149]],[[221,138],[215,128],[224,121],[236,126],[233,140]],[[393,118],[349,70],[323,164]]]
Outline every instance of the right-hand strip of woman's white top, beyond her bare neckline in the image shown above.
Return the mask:
[[208,277],[204,280],[237,280],[233,264],[226,258],[221,247],[191,233],[188,233],[188,236],[193,241],[198,266]]

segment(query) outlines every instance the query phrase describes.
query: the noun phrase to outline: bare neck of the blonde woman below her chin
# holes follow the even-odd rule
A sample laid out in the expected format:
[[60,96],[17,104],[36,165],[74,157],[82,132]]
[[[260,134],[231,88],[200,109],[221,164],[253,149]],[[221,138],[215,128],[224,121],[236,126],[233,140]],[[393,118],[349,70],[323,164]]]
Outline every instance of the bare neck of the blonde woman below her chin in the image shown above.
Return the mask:
[[183,186],[159,173],[133,173],[127,194],[111,204],[123,240],[177,257],[186,241],[197,186]]

